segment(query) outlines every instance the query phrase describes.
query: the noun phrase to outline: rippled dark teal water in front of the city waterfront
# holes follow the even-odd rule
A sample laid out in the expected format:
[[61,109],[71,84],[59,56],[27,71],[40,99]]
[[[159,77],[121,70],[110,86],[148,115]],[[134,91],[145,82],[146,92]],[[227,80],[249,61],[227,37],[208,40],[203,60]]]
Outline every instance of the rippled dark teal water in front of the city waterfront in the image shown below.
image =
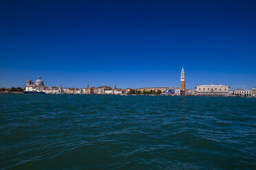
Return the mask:
[[256,99],[0,94],[0,169],[256,169]]

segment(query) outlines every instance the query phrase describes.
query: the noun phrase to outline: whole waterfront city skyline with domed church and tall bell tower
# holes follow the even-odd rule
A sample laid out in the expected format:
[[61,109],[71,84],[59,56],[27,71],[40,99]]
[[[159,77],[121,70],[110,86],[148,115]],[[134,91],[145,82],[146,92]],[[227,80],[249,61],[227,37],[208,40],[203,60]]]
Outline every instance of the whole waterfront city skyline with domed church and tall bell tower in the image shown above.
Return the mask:
[[111,86],[89,86],[86,88],[65,88],[60,84],[57,86],[45,86],[40,75],[38,79],[34,82],[32,79],[28,78],[26,81],[25,88],[14,88],[6,89],[1,88],[1,93],[40,93],[40,94],[84,94],[84,95],[187,95],[187,96],[215,96],[215,97],[255,97],[256,87],[250,89],[236,88],[231,90],[231,88],[224,84],[203,84],[198,85],[194,89],[185,88],[185,71],[182,67],[181,69],[181,88],[174,86],[154,86],[154,87],[144,87],[144,88],[114,88]]

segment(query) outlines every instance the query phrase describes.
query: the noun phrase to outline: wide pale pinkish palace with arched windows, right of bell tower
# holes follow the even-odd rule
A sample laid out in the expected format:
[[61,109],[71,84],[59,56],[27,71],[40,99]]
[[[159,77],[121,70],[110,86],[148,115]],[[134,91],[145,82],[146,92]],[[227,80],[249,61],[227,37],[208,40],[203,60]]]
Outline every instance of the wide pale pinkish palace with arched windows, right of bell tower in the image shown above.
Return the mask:
[[229,96],[231,88],[226,85],[201,85],[196,86],[196,93],[199,96]]

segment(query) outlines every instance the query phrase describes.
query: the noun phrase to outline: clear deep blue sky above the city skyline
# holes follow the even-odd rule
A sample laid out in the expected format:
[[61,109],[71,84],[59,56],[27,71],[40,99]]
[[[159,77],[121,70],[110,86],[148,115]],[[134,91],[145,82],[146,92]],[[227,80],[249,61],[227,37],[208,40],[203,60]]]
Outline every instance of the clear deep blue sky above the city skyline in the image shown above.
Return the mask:
[[256,86],[256,1],[0,1],[0,87]]

